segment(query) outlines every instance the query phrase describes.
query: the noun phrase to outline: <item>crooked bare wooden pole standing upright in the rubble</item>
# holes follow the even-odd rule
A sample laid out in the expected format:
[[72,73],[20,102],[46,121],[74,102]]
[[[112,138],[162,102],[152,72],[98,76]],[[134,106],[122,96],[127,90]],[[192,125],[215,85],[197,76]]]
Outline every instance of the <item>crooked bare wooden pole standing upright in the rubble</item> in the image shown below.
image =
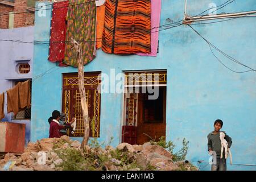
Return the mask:
[[85,88],[84,88],[84,63],[81,57],[81,46],[76,40],[71,38],[71,43],[73,48],[77,51],[77,58],[79,60],[78,64],[78,79],[79,79],[79,93],[81,98],[82,106],[82,118],[84,120],[84,138],[81,143],[81,151],[84,151],[85,146],[88,144],[89,140],[89,116],[88,116],[88,105],[86,102]]

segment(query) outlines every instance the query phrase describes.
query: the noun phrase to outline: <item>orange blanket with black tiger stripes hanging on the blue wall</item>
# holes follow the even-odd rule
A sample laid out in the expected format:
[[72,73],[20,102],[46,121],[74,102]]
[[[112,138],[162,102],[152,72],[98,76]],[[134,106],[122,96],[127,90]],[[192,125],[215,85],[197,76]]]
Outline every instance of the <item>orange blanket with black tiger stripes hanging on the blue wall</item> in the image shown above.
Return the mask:
[[102,50],[151,53],[151,1],[106,0]]

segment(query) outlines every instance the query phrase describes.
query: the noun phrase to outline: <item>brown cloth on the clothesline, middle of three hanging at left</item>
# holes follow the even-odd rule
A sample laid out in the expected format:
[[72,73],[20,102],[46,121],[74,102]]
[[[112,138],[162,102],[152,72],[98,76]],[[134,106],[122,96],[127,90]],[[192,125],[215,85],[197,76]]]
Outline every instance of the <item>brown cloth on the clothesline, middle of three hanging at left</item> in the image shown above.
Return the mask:
[[7,90],[7,113],[13,112],[16,115],[19,111],[19,85],[20,82]]

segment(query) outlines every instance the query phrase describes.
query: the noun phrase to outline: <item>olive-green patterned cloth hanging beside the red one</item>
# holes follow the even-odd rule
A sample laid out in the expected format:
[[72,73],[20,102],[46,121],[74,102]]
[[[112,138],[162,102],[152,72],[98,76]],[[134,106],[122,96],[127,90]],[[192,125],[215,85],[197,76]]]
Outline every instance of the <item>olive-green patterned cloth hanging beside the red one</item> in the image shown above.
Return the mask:
[[[88,2],[88,3],[85,3]],[[91,0],[69,0],[68,23],[66,32],[64,64],[78,66],[77,52],[72,49],[71,38],[81,46],[81,57],[84,65],[96,55],[96,4]]]

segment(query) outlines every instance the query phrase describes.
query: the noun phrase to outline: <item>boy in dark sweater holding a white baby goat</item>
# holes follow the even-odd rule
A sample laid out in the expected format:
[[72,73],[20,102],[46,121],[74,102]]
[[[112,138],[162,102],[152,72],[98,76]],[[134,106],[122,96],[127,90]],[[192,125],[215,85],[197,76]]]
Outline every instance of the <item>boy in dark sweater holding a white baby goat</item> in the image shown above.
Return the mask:
[[[220,131],[223,126],[223,122],[221,119],[217,119],[214,122],[214,131],[208,134],[208,152],[215,151],[216,152],[216,162],[217,164],[212,164],[212,171],[226,171],[226,159],[221,156],[221,140],[220,140],[220,132],[225,134],[225,140],[228,142],[228,148],[232,145],[232,138],[230,138],[225,131]],[[225,156],[225,151],[223,151],[223,156]]]

